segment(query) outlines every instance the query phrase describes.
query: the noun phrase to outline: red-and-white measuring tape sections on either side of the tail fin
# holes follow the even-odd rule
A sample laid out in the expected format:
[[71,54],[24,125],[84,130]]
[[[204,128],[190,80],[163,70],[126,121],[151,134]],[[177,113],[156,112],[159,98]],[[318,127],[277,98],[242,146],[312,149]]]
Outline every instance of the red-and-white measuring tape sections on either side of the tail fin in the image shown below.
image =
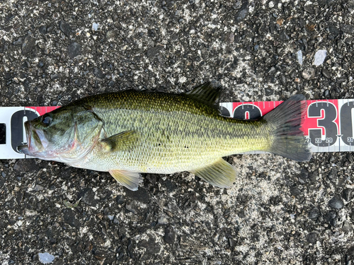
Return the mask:
[[[282,101],[221,103],[222,115],[236,119],[257,119]],[[354,151],[354,100],[307,100],[302,131],[313,152]]]

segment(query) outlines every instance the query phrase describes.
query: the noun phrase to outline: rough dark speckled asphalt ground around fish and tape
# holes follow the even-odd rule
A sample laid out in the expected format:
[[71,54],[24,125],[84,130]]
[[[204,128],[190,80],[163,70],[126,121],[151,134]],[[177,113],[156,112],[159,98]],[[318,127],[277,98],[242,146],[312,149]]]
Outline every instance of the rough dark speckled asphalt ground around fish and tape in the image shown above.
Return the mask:
[[[129,88],[222,101],[354,98],[354,1],[0,1],[0,106]],[[314,54],[326,59],[314,65]],[[302,51],[302,64],[297,56]],[[219,189],[0,161],[1,264],[353,264],[353,154],[226,158]],[[79,204],[75,204],[76,201]]]

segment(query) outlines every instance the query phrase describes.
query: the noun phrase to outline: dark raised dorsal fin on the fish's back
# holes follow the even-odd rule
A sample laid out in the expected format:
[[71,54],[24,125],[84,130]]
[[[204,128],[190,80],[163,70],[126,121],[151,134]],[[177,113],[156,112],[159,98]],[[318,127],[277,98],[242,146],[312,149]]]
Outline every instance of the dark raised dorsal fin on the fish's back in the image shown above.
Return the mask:
[[217,81],[203,83],[190,92],[186,93],[191,98],[204,102],[207,105],[215,106],[219,109],[220,91],[222,86]]

